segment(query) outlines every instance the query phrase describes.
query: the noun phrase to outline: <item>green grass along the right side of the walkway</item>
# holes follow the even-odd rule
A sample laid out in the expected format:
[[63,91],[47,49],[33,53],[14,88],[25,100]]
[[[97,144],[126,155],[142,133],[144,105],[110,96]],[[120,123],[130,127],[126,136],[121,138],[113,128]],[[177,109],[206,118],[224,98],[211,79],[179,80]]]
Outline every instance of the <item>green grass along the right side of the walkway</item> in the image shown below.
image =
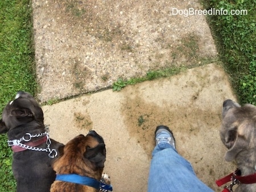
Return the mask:
[[[226,10],[226,15],[209,15],[220,60],[240,103],[256,104],[256,1],[204,1],[207,9]],[[240,11],[232,15],[232,10]],[[246,11],[243,11],[246,10]],[[237,13],[238,13],[237,11]]]

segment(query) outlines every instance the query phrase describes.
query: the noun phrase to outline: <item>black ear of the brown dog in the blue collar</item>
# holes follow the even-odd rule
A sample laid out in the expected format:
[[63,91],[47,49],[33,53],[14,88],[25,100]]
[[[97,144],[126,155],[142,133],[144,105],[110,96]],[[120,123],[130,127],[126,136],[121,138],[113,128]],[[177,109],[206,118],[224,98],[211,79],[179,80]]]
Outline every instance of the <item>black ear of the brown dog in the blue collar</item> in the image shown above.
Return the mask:
[[87,147],[84,157],[89,161],[94,162],[98,168],[104,168],[104,162],[106,161],[105,144],[98,144],[94,148]]

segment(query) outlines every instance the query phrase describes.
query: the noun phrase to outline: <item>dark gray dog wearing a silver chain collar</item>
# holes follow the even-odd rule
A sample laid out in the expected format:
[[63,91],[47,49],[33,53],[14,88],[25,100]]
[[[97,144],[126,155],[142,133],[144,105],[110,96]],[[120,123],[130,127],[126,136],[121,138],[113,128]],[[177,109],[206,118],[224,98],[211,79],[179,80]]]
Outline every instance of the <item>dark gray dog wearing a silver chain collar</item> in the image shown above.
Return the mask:
[[49,139],[42,108],[30,94],[19,91],[7,103],[0,119],[0,133],[6,132],[17,191],[49,191],[56,177],[52,162],[63,144]]

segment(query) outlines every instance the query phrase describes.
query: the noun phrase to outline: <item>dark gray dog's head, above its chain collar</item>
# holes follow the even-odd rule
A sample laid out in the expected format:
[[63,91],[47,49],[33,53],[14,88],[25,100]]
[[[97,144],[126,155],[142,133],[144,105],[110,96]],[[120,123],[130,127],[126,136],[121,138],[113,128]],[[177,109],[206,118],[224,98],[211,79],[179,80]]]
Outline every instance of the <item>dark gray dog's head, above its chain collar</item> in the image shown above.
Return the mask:
[[15,127],[33,122],[43,126],[42,108],[29,93],[19,91],[13,101],[7,103],[0,119],[0,133],[6,133]]

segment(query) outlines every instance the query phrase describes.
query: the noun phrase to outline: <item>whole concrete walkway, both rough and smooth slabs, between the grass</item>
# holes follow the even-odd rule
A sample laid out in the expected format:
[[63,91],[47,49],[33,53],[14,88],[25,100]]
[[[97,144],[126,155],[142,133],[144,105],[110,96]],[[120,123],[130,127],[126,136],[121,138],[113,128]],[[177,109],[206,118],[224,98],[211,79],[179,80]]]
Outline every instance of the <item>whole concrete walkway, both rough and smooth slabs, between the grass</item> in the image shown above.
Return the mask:
[[[39,102],[50,135],[67,143],[96,130],[107,150],[105,172],[114,191],[146,191],[159,124],[174,132],[177,151],[215,191],[232,172],[218,133],[225,99],[236,100],[204,15],[174,15],[173,7],[202,9],[197,1],[32,1]],[[148,70],[197,68],[173,77],[109,87]],[[193,184],[192,184],[193,185]]]

